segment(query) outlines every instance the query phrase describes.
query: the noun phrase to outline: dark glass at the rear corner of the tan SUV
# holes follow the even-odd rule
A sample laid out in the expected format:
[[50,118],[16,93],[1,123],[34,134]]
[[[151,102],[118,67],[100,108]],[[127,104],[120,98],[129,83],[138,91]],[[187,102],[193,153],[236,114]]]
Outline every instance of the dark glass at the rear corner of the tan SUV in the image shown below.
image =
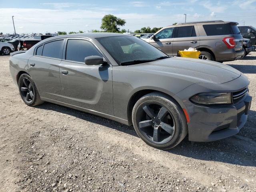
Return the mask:
[[203,27],[207,36],[240,34],[238,27],[230,23],[203,25]]

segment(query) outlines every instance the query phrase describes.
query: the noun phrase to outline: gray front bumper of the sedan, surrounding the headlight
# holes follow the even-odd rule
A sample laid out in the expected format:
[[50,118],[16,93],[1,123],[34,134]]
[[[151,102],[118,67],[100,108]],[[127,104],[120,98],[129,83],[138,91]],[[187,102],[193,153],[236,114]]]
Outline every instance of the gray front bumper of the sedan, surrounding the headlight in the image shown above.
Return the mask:
[[[200,92],[235,92],[248,86],[249,80],[244,76],[224,84],[193,84],[176,96],[182,98],[190,122],[188,139],[196,142],[214,141],[237,134],[247,120],[251,97],[247,93],[237,104],[200,106],[192,103],[184,95]],[[210,89],[212,87],[212,89]],[[214,90],[213,90],[214,89]]]

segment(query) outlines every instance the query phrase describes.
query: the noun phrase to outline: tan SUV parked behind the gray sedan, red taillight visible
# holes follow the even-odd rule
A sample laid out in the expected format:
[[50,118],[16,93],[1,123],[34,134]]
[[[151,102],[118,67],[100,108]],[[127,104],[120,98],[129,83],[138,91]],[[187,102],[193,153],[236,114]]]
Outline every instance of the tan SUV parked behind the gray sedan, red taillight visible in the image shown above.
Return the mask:
[[172,56],[192,47],[200,50],[200,59],[232,61],[244,55],[237,24],[220,20],[179,23],[162,28],[146,42]]

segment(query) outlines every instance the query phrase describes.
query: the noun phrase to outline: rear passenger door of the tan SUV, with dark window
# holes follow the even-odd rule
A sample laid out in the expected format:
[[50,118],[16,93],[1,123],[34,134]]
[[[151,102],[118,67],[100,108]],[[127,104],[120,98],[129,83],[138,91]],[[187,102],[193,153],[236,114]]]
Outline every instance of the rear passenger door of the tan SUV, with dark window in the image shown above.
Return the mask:
[[176,27],[172,44],[173,55],[177,55],[178,50],[199,47],[200,37],[196,35],[196,31],[197,26]]

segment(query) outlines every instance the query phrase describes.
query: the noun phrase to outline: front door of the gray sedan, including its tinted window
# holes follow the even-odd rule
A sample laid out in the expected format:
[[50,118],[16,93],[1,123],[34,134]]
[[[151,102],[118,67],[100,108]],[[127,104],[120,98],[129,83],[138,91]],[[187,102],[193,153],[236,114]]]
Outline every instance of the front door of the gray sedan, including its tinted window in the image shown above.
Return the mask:
[[87,56],[102,56],[92,42],[70,38],[60,62],[60,81],[64,102],[89,110],[113,115],[112,66],[88,66]]

